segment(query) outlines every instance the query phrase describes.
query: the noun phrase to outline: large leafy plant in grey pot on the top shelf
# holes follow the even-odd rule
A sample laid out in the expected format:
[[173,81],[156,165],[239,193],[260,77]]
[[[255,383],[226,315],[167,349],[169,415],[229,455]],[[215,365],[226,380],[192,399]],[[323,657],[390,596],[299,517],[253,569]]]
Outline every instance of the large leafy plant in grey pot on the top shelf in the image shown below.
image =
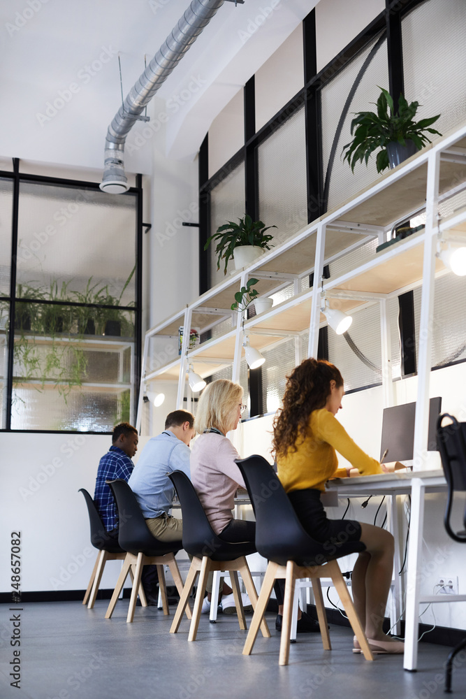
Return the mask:
[[[388,167],[395,167],[403,160],[409,158],[417,150],[421,150],[426,143],[431,143],[426,136],[430,134],[442,136],[439,131],[430,129],[431,124],[437,121],[439,114],[429,119],[414,121],[414,115],[419,103],[408,104],[405,97],[400,94],[398,110],[395,111],[391,94],[383,87],[379,99],[377,99],[377,113],[356,112],[351,122],[351,143],[344,145],[344,160],[347,160],[354,172],[354,166],[358,161],[369,160],[372,152],[381,148],[377,153],[377,172],[381,173]],[[390,114],[388,113],[390,108]]]

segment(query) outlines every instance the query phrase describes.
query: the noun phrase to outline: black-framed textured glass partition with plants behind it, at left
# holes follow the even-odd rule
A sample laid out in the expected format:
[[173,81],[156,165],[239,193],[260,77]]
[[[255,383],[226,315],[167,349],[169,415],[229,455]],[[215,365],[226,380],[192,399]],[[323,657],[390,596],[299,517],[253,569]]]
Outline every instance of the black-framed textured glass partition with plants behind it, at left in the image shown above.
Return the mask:
[[0,181],[1,429],[109,432],[135,419],[140,196]]

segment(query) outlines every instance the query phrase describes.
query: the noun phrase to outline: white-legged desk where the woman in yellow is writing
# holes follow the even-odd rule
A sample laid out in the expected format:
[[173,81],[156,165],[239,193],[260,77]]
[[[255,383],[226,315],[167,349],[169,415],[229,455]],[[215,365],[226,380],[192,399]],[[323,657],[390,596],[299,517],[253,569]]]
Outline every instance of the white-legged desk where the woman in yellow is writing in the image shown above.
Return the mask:
[[[417,669],[418,658],[418,627],[419,605],[430,602],[465,602],[466,595],[424,595],[421,597],[421,552],[422,534],[424,527],[424,496],[426,492],[446,490],[443,470],[413,471],[398,473],[382,473],[356,478],[335,478],[328,482],[328,491],[337,491],[340,496],[357,497],[370,495],[411,495],[411,524],[409,531],[409,546],[407,556],[406,581],[406,614],[405,614],[405,670]],[[393,507],[393,510],[395,508]],[[393,516],[391,531],[395,536],[397,556],[395,562],[400,562],[398,547],[398,518]],[[439,522],[439,526],[443,526]],[[400,568],[398,568],[400,570]],[[398,594],[395,593],[395,598]],[[397,600],[400,606],[400,598]]]

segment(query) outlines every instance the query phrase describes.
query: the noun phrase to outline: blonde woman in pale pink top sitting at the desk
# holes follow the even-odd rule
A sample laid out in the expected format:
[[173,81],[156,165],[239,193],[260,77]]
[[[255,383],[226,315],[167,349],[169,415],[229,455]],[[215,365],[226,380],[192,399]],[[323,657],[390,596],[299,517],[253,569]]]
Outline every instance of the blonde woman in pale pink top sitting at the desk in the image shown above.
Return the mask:
[[[198,493],[210,526],[220,539],[231,543],[255,541],[256,522],[233,519],[232,510],[238,486],[245,488],[245,482],[235,459],[240,455],[226,433],[235,430],[246,406],[242,402],[243,390],[240,384],[227,379],[219,379],[208,384],[198,403],[194,428],[200,436],[191,448],[191,481]],[[283,614],[282,581],[275,584],[278,617],[275,628],[282,628]],[[207,600],[210,591],[207,586]],[[249,600],[248,600],[249,602]],[[230,607],[225,607],[230,604]],[[250,604],[250,603],[249,603]],[[244,600],[243,600],[244,605]],[[224,611],[234,612],[233,595],[231,600],[222,600]],[[246,610],[246,607],[245,607]],[[248,605],[252,611],[252,606]],[[319,632],[319,624],[298,610],[298,632]]]

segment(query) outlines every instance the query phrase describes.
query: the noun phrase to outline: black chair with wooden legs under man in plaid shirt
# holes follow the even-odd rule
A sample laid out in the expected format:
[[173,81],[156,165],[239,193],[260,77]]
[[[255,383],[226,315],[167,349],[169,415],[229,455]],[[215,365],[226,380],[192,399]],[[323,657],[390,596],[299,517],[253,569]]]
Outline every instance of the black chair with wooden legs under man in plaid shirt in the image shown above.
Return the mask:
[[89,584],[84,599],[82,600],[82,604],[85,605],[87,603],[87,609],[92,610],[96,601],[97,592],[99,591],[99,585],[101,584],[105,563],[107,561],[123,561],[126,552],[119,546],[116,539],[108,536],[108,532],[105,530],[105,526],[103,526],[96,504],[87,490],[85,488],[80,488],[79,492],[84,496],[87,512],[89,512],[91,543],[96,549],[99,549],[100,552],[97,555],[94,570],[92,570],[91,578],[89,579]]

